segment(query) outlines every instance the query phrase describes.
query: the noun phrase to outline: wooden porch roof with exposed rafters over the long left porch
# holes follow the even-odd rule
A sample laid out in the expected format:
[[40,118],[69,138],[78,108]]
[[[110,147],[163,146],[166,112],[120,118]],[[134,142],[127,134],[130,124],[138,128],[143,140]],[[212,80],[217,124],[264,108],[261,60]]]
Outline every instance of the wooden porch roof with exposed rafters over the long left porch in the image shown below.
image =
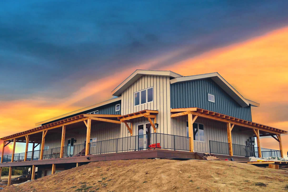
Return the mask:
[[[71,125],[74,123],[83,123],[82,121],[85,121],[87,119],[91,119],[94,121],[100,121],[100,122],[121,123],[119,120],[117,120],[118,116],[119,115],[102,115],[102,114],[77,115],[75,117],[63,119],[63,120],[56,121],[54,123],[50,123],[50,124],[47,124],[44,126],[33,128],[33,129],[23,131],[20,133],[16,133],[16,134],[13,134],[10,136],[2,137],[2,138],[0,138],[0,140],[10,140],[13,138],[17,138],[19,141],[21,141],[21,140],[23,140],[22,138],[24,138],[24,140],[25,140],[25,137],[24,137],[25,135],[31,135],[30,140],[33,140],[33,138],[35,138],[34,140],[37,140],[39,137],[40,138],[42,137],[42,131],[50,130],[50,131],[48,131],[48,133],[52,133],[52,132],[57,131],[62,126],[67,126],[67,125]],[[84,123],[83,123],[83,125],[85,126]],[[52,129],[53,129],[53,131],[52,131]]]

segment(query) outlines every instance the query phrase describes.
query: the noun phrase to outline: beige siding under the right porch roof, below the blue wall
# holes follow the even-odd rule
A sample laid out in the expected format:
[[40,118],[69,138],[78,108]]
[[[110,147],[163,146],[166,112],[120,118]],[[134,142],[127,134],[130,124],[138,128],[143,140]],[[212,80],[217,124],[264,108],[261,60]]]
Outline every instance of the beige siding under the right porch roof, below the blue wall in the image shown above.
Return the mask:
[[[171,118],[171,134],[179,136],[187,136],[186,134],[186,122],[188,121],[187,115],[181,117]],[[195,152],[210,153],[209,140],[228,142],[226,123],[220,121],[214,121],[211,119],[205,119],[198,117],[195,123],[204,125],[204,142],[194,141]],[[253,137],[253,132],[241,132],[238,126],[234,126],[232,130],[232,143],[239,145],[246,145],[247,139]]]

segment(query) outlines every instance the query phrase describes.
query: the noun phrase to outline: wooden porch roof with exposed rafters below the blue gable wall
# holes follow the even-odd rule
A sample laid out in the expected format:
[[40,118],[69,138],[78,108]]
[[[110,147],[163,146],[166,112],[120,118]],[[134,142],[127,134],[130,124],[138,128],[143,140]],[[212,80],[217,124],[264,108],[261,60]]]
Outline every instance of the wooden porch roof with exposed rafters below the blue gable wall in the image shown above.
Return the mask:
[[272,134],[288,134],[287,131],[277,129],[274,127],[262,125],[260,123],[254,123],[251,121],[246,121],[243,119],[238,119],[236,117],[232,117],[229,115],[223,115],[221,113],[216,113],[213,111],[208,111],[205,109],[200,109],[198,107],[192,107],[192,108],[178,108],[178,109],[171,109],[171,117],[179,117],[183,115],[187,115],[188,113],[191,113],[193,115],[198,115],[199,117],[204,117],[208,119],[213,119],[216,121],[222,121],[226,123],[232,123],[234,125],[250,128],[250,129],[258,129],[259,131],[264,131]]

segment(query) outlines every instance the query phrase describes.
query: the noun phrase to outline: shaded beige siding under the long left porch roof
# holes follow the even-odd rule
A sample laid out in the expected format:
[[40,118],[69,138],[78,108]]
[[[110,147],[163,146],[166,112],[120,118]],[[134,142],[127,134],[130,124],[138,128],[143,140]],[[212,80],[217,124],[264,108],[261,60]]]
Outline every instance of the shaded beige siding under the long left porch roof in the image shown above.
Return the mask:
[[[84,141],[86,140],[86,131],[87,128],[84,123],[83,126],[79,126],[79,128],[77,129],[67,130],[65,134],[65,146],[67,146],[67,140],[69,138],[74,138],[75,140],[77,140],[74,145],[84,143]],[[97,137],[97,141],[115,139],[119,138],[119,136],[120,124],[103,122],[91,126],[90,138]],[[45,138],[45,146],[49,146],[49,149],[60,147],[61,133],[47,135]]]

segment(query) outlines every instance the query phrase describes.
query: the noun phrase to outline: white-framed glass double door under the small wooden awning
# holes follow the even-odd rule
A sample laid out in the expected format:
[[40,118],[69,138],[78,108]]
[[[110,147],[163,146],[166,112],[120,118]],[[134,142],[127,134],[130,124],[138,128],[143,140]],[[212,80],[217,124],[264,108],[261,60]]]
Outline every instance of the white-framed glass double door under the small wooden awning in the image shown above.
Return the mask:
[[137,124],[138,150],[146,150],[150,144],[151,124],[149,122]]

